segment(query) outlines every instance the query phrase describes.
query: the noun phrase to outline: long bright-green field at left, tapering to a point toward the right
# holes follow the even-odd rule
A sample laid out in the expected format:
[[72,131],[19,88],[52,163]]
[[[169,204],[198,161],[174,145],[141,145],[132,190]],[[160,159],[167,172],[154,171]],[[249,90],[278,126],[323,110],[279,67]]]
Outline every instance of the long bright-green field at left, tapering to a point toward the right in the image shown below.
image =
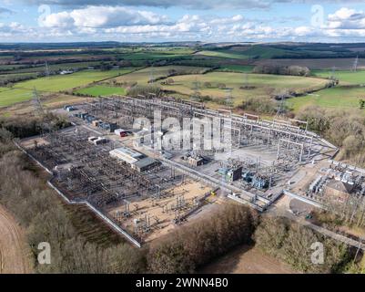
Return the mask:
[[39,91],[57,92],[66,89],[75,89],[89,83],[117,77],[131,72],[133,68],[123,68],[110,71],[80,71],[69,75],[56,75],[48,78],[36,78],[15,84],[16,89],[37,89]]

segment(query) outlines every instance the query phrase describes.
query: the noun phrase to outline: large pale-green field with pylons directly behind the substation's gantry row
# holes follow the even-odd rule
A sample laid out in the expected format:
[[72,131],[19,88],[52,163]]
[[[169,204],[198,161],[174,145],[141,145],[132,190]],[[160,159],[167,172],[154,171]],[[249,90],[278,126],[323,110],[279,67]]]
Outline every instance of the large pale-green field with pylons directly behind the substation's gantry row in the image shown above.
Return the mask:
[[[246,75],[232,72],[212,72],[204,75],[183,75],[175,76],[173,85],[166,85],[163,89],[176,91],[177,93],[191,95],[194,93],[195,82],[199,83],[199,91],[203,96],[211,98],[227,97],[226,89],[218,89],[218,84],[223,83],[227,88],[232,89],[234,104],[238,105],[242,100],[250,97],[269,96],[272,93],[289,89],[297,93],[307,90],[323,89],[328,80],[321,78],[302,78],[295,76],[279,76],[264,74],[248,74],[248,86],[254,89],[240,89],[246,84]],[[209,82],[211,88],[205,83]]]

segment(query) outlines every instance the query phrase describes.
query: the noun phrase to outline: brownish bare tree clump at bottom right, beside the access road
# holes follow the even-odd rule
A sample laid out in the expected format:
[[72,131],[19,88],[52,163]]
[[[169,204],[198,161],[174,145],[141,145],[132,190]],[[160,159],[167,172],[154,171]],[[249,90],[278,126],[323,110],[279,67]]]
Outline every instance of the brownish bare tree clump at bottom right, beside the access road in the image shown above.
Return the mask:
[[[253,238],[260,249],[304,273],[340,273],[353,259],[347,245],[286,218],[262,218]],[[315,243],[324,247],[323,264],[312,263]]]

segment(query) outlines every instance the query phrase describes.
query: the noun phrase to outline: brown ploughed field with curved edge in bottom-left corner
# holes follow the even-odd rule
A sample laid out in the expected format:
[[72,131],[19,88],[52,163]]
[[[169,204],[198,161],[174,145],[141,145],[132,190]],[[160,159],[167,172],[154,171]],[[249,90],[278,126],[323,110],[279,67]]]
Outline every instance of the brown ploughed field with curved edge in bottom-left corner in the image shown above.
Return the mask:
[[14,217],[0,205],[0,274],[31,273],[25,236]]

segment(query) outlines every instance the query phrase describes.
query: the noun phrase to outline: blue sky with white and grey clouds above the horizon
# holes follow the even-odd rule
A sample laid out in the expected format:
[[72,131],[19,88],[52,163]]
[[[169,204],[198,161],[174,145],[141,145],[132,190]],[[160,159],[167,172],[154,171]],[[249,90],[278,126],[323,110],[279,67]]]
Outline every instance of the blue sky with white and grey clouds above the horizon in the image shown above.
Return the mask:
[[0,0],[0,42],[365,42],[364,0]]

